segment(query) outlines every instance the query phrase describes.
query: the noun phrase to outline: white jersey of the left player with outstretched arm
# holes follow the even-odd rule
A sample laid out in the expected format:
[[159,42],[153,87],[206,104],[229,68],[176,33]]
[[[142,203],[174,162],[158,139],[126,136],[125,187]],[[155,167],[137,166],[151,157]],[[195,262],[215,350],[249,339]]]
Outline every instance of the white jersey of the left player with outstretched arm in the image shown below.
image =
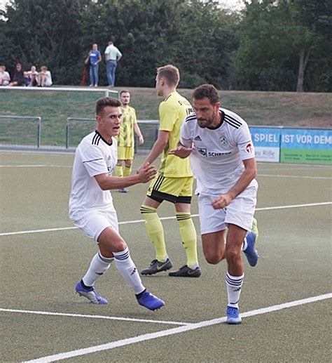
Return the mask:
[[113,210],[113,199],[109,190],[102,190],[94,176],[112,174],[118,160],[117,143],[110,145],[94,131],[85,136],[76,148],[71,193],[69,197],[69,218],[80,218],[88,210]]

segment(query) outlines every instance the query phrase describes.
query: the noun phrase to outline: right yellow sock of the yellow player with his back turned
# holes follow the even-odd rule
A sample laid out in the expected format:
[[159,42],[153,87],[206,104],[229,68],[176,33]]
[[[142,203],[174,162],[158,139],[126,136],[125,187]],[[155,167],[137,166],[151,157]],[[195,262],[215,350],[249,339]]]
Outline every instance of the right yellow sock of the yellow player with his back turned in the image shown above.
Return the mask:
[[177,212],[177,221],[179,222],[180,235],[184,251],[186,251],[187,265],[189,268],[198,267],[197,256],[197,235],[191,213]]

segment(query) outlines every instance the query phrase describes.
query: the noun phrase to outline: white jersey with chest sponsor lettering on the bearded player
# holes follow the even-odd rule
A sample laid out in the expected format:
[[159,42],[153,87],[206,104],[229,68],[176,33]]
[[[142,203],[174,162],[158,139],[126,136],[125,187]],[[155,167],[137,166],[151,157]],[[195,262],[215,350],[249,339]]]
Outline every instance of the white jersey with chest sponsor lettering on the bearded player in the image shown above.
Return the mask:
[[[193,146],[190,159],[197,193],[228,192],[244,171],[242,160],[255,157],[247,123],[229,110],[219,112],[223,121],[218,128],[200,127],[195,114],[187,116],[181,127],[181,144]],[[256,180],[251,185],[257,185]]]

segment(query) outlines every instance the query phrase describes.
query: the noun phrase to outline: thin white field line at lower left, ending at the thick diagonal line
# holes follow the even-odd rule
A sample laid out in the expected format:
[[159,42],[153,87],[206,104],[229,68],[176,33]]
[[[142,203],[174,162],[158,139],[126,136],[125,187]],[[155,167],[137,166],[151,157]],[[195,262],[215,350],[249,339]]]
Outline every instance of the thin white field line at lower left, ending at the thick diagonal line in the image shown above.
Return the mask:
[[191,323],[184,322],[167,322],[165,320],[152,320],[152,319],[134,319],[131,317],[108,317],[104,315],[85,315],[85,314],[71,314],[69,312],[49,312],[49,311],[35,311],[35,310],[17,310],[17,309],[3,309],[2,312],[18,312],[20,314],[36,314],[36,315],[51,315],[60,317],[88,317],[91,319],[105,319],[105,320],[120,320],[125,322],[140,322],[140,323],[156,323],[156,324],[171,324],[171,325],[188,325]]

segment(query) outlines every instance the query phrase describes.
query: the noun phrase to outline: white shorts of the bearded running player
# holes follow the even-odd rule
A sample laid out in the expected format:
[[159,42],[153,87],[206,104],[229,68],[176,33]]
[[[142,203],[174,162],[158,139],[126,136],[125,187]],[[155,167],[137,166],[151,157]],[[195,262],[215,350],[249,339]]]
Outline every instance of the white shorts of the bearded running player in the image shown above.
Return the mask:
[[250,231],[257,203],[257,186],[244,190],[223,209],[213,209],[212,201],[217,195],[198,195],[200,234],[225,230],[228,223]]

